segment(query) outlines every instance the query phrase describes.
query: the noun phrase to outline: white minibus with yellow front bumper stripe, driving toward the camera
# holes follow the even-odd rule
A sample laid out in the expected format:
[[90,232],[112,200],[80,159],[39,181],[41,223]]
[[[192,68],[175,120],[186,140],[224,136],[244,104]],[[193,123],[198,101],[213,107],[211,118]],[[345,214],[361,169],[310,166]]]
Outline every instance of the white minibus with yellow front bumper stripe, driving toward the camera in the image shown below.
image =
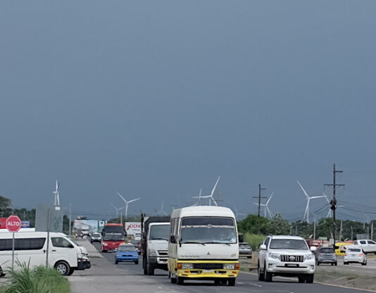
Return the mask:
[[214,280],[235,285],[239,273],[237,221],[227,207],[175,209],[170,222],[168,275],[172,283]]

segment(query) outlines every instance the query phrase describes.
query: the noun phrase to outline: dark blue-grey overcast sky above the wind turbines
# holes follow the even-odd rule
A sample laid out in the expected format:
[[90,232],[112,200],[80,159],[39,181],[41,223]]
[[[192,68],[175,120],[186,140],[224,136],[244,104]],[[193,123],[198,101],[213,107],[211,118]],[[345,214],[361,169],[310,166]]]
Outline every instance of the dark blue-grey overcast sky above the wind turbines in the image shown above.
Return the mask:
[[[208,194],[376,213],[375,1],[2,1],[0,195],[108,219]],[[217,194],[218,196],[218,194]],[[325,216],[325,199],[310,210]],[[312,214],[313,216],[313,214]],[[375,219],[376,214],[368,214]]]

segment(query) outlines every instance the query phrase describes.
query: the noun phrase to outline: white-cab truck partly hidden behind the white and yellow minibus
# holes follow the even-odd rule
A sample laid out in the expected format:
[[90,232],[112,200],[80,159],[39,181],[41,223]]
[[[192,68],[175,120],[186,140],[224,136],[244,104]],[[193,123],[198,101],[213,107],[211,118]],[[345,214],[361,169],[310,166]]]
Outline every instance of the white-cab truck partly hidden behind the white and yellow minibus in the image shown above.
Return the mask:
[[156,268],[167,271],[170,217],[145,217],[143,214],[141,226],[141,253],[144,275],[154,275]]

